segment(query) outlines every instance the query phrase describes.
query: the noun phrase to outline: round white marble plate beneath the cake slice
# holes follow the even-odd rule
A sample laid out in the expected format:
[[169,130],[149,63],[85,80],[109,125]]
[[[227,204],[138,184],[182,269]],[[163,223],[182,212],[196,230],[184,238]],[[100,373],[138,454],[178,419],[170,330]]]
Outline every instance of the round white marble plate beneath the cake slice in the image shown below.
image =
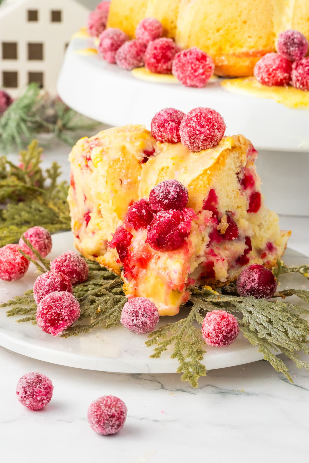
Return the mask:
[[[52,239],[53,250],[50,259],[68,249],[74,249],[71,232],[55,234]],[[309,257],[288,249],[284,262],[287,265],[300,265],[308,263]],[[38,271],[31,264],[21,280],[0,281],[0,303],[32,288],[37,276]],[[309,289],[308,282],[301,275],[283,275],[281,288],[285,286]],[[290,299],[302,304],[294,296]],[[144,344],[146,335],[130,333],[122,325],[109,330],[95,329],[88,334],[65,339],[53,338],[31,323],[15,323],[14,320],[21,317],[6,317],[6,308],[0,308],[0,345],[19,354],[69,367],[121,373],[172,373],[177,369],[177,361],[170,359],[170,350],[164,352],[160,359],[149,358],[151,348]],[[165,324],[167,321],[169,321],[168,317],[162,317],[160,323]],[[254,362],[262,358],[263,355],[257,348],[240,334],[229,347],[221,349],[208,347],[204,363],[207,369],[216,369]]]

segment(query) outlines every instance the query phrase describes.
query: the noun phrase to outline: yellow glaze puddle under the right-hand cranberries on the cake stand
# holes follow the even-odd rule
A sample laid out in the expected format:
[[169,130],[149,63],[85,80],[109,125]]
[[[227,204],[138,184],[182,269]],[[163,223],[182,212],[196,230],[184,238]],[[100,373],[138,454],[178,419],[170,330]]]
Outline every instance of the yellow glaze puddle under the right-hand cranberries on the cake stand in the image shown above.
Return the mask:
[[269,98],[288,108],[308,109],[309,92],[294,87],[267,87],[260,84],[254,77],[244,79],[226,79],[221,82],[222,87],[230,92]]

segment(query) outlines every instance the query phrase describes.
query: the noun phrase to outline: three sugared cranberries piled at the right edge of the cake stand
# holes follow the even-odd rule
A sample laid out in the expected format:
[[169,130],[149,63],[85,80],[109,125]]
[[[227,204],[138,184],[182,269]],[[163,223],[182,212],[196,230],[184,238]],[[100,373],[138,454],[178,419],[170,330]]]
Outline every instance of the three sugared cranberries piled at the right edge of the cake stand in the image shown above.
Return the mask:
[[254,76],[263,85],[283,86],[289,83],[300,90],[309,90],[308,40],[299,31],[279,34],[278,53],[267,53],[254,67]]

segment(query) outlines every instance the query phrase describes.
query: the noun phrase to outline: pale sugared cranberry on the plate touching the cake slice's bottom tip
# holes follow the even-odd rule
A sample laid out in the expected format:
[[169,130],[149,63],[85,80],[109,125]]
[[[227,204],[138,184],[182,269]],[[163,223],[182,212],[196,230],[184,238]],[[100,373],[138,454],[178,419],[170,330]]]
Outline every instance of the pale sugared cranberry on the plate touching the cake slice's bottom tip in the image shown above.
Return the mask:
[[137,334],[150,333],[158,325],[157,306],[145,297],[134,297],[126,302],[120,322],[129,331]]

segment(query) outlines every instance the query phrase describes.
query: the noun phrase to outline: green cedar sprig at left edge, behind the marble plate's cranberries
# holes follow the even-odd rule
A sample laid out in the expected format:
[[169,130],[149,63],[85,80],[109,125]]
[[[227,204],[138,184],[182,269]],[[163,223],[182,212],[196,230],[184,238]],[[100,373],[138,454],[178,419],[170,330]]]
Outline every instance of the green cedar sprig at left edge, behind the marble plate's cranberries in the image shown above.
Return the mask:
[[69,186],[59,182],[60,166],[41,168],[42,149],[32,140],[20,153],[20,164],[0,157],[0,247],[16,242],[29,227],[50,232],[70,230]]

